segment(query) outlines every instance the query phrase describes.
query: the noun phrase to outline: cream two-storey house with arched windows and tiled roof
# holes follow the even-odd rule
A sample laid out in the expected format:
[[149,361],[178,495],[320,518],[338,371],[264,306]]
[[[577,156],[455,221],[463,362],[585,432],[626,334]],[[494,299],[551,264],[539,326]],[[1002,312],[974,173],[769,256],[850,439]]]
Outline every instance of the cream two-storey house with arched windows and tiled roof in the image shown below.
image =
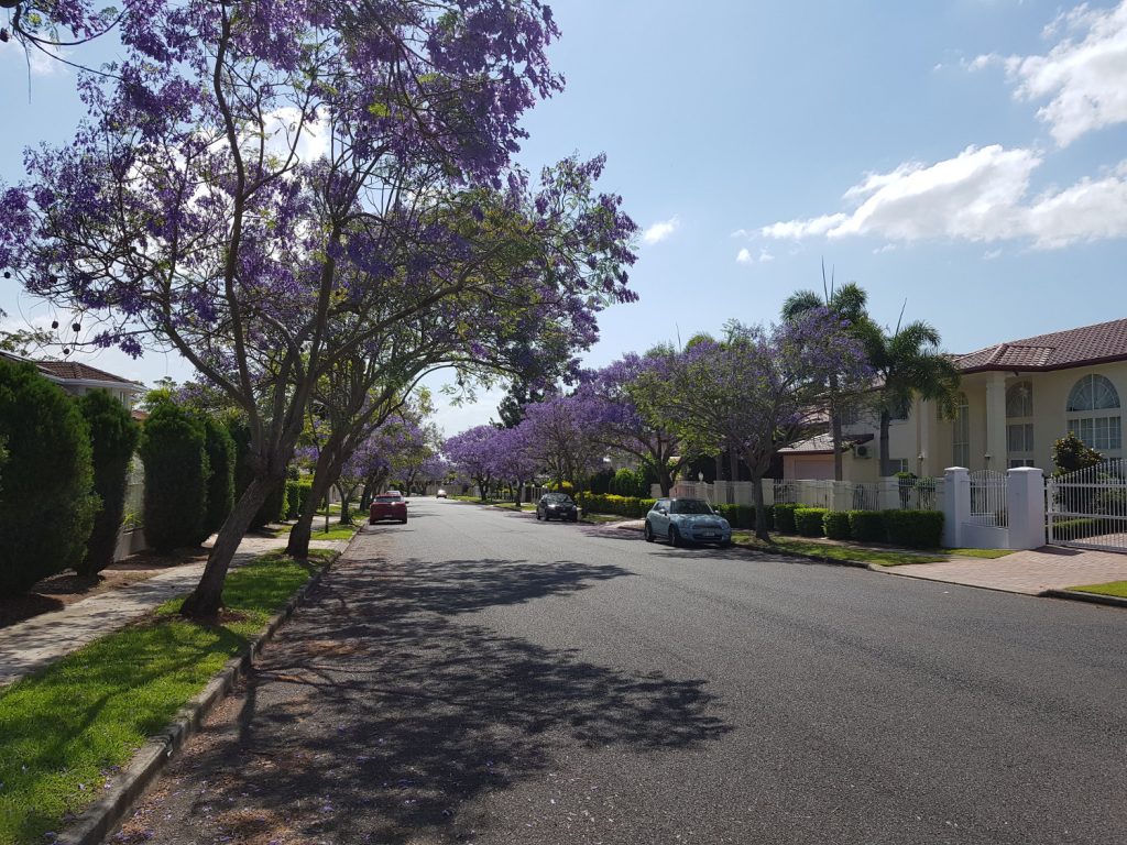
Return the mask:
[[[1101,452],[1124,457],[1127,401],[1127,320],[1013,340],[958,355],[962,373],[953,419],[916,401],[889,432],[893,469],[942,475],[948,466],[1053,470],[1053,444],[1068,432]],[[879,428],[861,417],[844,426],[848,481],[879,475]],[[819,435],[783,450],[787,479],[832,479],[833,450]]]

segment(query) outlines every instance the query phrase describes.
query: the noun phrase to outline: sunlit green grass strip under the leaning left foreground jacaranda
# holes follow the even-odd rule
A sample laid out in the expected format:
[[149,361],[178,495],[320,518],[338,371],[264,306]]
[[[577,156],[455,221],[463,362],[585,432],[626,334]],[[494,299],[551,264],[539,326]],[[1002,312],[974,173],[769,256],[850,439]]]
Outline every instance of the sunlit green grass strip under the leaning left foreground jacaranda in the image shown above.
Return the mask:
[[228,577],[219,624],[174,599],[0,692],[0,845],[42,843],[92,802],[329,555],[258,558]]

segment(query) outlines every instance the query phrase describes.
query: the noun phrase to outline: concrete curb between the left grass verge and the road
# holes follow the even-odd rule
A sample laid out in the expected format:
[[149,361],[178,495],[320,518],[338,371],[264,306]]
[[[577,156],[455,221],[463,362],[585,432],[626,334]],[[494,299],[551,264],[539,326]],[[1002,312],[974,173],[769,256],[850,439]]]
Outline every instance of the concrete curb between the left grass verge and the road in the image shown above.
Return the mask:
[[305,601],[321,582],[321,578],[343,555],[361,534],[353,534],[343,552],[337,552],[329,561],[305,581],[305,585],[286,602],[255,638],[250,647],[240,656],[232,657],[207,686],[185,704],[172,722],[152,737],[133,755],[133,759],[115,777],[103,795],[86,809],[74,821],[54,838],[56,845],[99,845],[118,822],[128,815],[148,789],[160,776],[161,771],[184,744],[199,730],[199,726],[214,706],[231,692],[236,683],[250,669],[254,658],[269,642],[282,624]]

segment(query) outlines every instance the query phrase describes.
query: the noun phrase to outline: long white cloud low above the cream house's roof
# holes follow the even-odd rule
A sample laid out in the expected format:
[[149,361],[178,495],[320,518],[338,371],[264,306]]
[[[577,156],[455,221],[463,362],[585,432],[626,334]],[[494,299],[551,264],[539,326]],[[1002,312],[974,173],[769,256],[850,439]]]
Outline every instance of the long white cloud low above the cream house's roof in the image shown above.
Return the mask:
[[1042,160],[1033,150],[968,146],[934,164],[868,175],[845,192],[846,201],[860,203],[851,213],[782,221],[760,233],[796,240],[869,235],[894,243],[1029,238],[1042,249],[1127,237],[1127,162],[1100,178],[1029,197],[1030,177]]

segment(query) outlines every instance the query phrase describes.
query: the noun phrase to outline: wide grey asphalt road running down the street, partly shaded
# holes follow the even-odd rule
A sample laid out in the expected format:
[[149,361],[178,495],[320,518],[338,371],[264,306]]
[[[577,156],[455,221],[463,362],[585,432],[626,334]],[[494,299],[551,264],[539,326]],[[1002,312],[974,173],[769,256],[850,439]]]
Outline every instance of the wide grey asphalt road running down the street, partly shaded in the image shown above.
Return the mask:
[[1127,614],[416,499],[121,840],[1127,842]]

